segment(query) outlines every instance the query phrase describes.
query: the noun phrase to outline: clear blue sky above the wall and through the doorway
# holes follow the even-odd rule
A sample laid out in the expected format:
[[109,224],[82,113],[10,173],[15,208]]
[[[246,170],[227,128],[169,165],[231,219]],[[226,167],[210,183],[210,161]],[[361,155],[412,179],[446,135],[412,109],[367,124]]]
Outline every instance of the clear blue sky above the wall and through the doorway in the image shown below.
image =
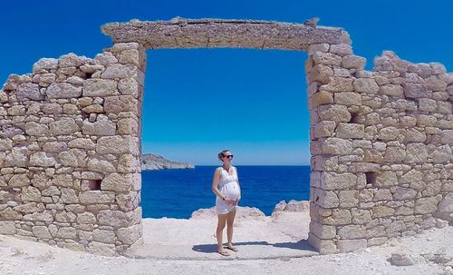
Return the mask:
[[[41,57],[94,57],[110,46],[101,25],[186,18],[260,19],[343,27],[354,54],[392,50],[453,72],[453,2],[430,1],[21,1],[0,9],[0,82]],[[303,52],[246,49],[148,51],[142,151],[216,164],[307,164],[309,113]]]

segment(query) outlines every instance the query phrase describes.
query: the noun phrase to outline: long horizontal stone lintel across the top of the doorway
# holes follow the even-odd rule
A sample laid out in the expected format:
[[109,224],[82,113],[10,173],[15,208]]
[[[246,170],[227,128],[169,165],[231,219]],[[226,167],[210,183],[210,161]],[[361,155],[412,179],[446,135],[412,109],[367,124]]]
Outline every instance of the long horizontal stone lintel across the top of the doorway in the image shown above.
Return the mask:
[[113,43],[159,48],[255,48],[306,50],[311,44],[351,44],[341,28],[253,20],[185,19],[102,25]]

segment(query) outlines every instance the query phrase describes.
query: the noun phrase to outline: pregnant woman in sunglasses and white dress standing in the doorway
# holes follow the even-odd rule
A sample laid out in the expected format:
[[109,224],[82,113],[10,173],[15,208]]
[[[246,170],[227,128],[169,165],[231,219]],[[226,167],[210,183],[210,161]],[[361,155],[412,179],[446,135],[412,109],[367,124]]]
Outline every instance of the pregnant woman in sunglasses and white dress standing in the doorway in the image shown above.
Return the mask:
[[226,228],[228,242],[226,249],[237,251],[237,248],[231,243],[233,239],[233,222],[236,216],[236,205],[241,200],[241,188],[237,180],[236,167],[231,165],[233,154],[229,150],[218,153],[218,159],[223,165],[217,167],[212,180],[212,192],[217,195],[217,252],[222,256],[229,256],[229,253],[223,247],[223,231]]

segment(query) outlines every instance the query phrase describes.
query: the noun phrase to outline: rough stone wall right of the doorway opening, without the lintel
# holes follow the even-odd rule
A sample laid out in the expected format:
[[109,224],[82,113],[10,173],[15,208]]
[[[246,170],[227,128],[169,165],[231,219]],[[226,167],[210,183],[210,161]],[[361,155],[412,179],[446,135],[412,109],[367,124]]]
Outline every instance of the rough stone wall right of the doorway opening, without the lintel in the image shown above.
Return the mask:
[[453,74],[392,52],[367,72],[349,44],[308,54],[313,247],[358,250],[453,221]]

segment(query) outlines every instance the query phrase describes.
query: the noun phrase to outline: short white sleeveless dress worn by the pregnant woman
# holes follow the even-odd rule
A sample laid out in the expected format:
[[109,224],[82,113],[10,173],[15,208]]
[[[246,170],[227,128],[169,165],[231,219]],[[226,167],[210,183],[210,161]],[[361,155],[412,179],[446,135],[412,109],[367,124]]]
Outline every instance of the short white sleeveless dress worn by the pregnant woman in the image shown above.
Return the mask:
[[[218,190],[226,197],[226,200],[236,200],[241,195],[239,184],[237,183],[236,167],[231,166],[233,173],[229,174],[223,167],[220,167],[222,173],[218,182]],[[217,215],[227,214],[232,211],[236,205],[229,205],[226,201],[217,196],[216,209]]]

